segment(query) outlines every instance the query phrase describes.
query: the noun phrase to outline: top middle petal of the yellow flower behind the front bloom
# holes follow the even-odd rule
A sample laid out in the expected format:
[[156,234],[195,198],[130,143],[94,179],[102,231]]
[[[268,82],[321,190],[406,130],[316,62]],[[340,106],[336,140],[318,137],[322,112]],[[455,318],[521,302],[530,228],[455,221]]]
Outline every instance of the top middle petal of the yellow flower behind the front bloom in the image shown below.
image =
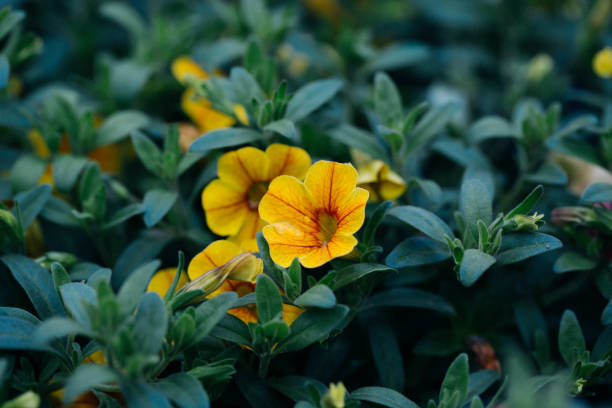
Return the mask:
[[264,152],[243,147],[221,156],[217,174],[224,182],[244,191],[257,182],[268,181],[269,167],[270,161]]

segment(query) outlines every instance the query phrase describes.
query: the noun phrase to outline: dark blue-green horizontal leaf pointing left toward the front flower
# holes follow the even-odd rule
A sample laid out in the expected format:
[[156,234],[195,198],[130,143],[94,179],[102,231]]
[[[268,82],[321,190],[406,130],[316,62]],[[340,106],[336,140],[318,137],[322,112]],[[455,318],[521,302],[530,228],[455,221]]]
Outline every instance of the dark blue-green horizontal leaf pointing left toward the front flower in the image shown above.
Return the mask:
[[385,262],[393,268],[429,265],[450,258],[448,245],[427,237],[411,237],[400,242]]

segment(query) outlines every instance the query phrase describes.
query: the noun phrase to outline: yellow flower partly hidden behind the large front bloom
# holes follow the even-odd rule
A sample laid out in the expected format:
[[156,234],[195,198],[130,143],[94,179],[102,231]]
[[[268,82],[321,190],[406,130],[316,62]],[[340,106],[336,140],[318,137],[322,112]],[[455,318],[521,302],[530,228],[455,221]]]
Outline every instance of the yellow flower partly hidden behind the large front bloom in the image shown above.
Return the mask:
[[254,147],[229,152],[219,159],[217,173],[202,192],[206,223],[215,234],[256,251],[255,236],[264,226],[258,206],[275,177],[303,179],[310,156],[299,147],[272,144],[265,152]]

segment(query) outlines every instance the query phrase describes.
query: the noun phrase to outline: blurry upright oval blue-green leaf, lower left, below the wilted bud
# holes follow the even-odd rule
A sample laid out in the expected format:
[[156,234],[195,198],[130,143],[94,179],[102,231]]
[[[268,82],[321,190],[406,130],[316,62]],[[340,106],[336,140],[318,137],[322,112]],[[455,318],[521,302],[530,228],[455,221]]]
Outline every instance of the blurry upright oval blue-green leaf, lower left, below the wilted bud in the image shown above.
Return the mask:
[[140,298],[134,321],[134,339],[139,350],[157,354],[164,341],[167,326],[164,301],[155,292],[145,293]]

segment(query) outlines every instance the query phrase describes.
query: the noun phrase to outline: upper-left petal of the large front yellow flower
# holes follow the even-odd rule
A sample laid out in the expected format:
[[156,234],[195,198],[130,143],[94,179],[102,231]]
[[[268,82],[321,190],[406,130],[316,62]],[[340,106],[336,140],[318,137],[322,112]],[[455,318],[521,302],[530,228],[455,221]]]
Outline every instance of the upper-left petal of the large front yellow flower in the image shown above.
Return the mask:
[[304,184],[292,176],[275,178],[259,203],[259,215],[269,223],[289,222],[303,231],[318,231],[317,213]]

